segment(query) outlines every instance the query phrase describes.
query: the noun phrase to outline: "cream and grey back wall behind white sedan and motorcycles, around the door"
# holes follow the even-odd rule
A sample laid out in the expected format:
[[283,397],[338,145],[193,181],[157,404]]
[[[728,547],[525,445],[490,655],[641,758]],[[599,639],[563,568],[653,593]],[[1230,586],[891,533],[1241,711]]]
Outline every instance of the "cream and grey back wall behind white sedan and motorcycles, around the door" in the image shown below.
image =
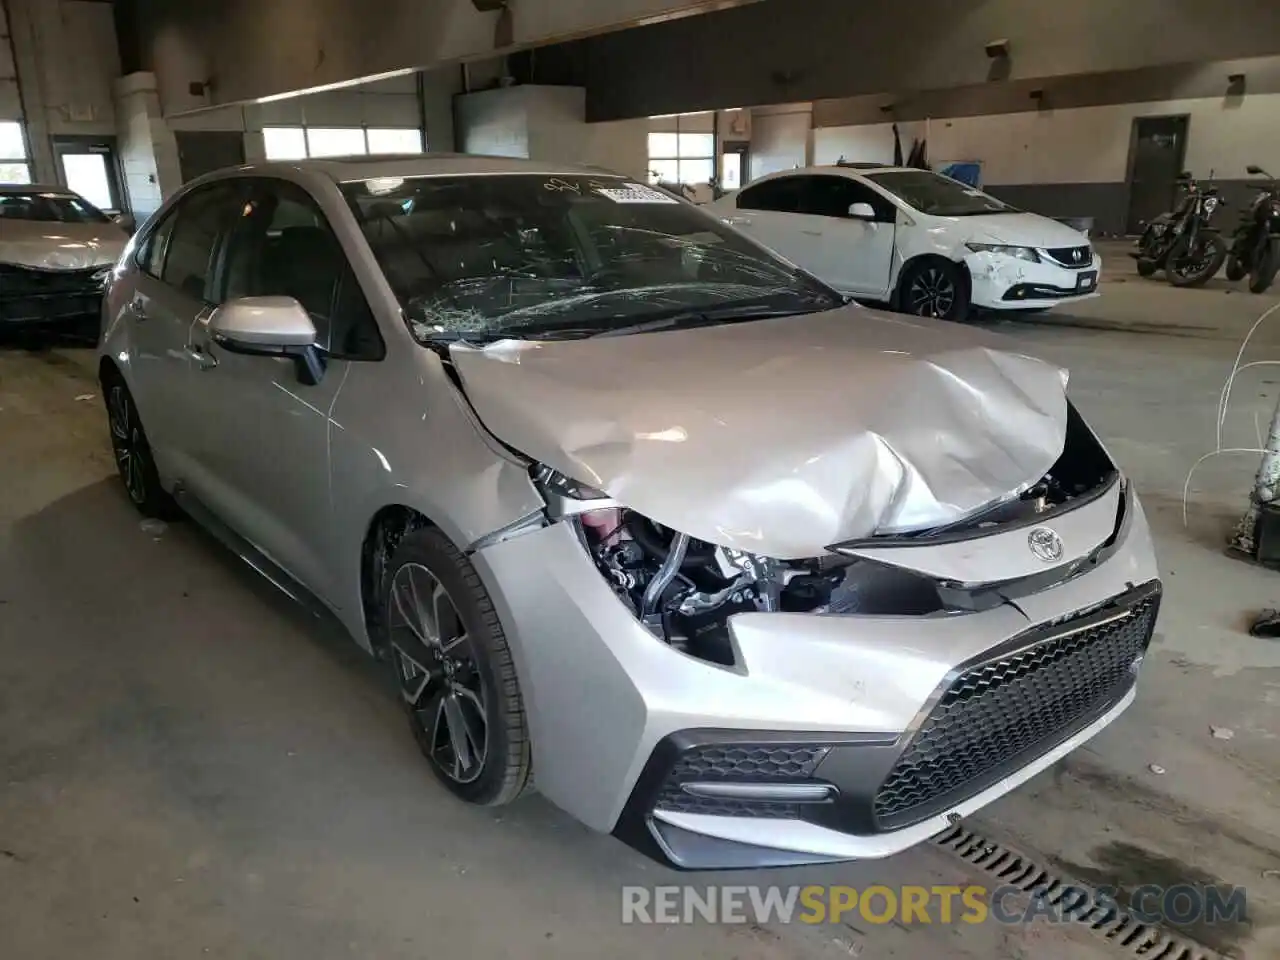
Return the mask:
[[[1229,201],[1249,195],[1247,164],[1280,168],[1280,93],[957,116],[901,123],[899,129],[904,150],[927,129],[931,160],[982,163],[983,184],[1018,206],[1052,216],[1093,216],[1100,230],[1120,232],[1133,120],[1169,114],[1189,114],[1185,165],[1206,178],[1212,170]],[[892,125],[815,129],[815,163],[841,156],[890,163]]]

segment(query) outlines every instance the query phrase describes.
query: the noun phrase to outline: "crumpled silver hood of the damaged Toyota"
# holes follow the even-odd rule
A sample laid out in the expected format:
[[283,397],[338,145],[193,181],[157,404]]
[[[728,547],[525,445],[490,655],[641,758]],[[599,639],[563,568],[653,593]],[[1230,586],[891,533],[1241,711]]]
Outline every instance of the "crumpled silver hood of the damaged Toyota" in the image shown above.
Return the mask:
[[781,559],[1020,493],[1066,430],[1059,367],[854,306],[451,355],[509,445],[669,527]]

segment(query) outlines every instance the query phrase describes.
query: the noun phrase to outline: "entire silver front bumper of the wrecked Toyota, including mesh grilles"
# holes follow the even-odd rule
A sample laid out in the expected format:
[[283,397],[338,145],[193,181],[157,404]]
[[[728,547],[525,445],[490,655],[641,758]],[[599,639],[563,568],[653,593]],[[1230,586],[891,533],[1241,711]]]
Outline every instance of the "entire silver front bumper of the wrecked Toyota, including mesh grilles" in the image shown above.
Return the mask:
[[[887,856],[937,833],[1123,712],[1158,603],[1135,499],[1105,559],[1016,605],[932,617],[737,614],[733,667],[657,641],[567,524],[472,559],[516,660],[540,792],[689,868]],[[1117,645],[1089,632],[1126,616],[1135,626]],[[1074,667],[1004,687],[1038,695],[1055,716],[1024,722],[1018,736],[1001,713],[1009,703],[964,716],[959,682],[993,686],[974,671],[1012,669],[1064,637],[1076,637],[1074,652],[1051,659]],[[941,723],[937,710],[955,719]],[[696,786],[705,782],[709,795]],[[758,788],[726,795],[724,783],[799,790],[762,801]]]

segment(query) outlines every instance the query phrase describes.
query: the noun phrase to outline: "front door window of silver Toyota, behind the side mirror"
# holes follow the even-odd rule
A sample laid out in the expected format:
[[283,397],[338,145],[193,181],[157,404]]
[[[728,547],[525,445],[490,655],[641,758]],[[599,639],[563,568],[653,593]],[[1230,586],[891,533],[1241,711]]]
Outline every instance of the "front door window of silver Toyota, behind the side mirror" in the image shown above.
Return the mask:
[[383,356],[372,311],[315,200],[288,180],[256,180],[232,230],[224,298],[293,297],[335,356]]

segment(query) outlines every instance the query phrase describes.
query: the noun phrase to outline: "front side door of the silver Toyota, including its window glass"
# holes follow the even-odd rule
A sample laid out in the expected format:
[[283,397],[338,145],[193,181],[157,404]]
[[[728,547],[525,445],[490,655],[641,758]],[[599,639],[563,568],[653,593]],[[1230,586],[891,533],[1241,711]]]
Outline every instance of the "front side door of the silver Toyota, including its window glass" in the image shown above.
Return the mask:
[[218,302],[284,296],[307,311],[324,357],[306,384],[289,357],[232,352],[209,316],[192,328],[193,390],[207,419],[197,443],[196,494],[237,534],[320,598],[333,598],[329,522],[332,411],[347,366],[383,355],[381,338],[346,253],[298,184],[242,180],[244,196],[216,270]]

